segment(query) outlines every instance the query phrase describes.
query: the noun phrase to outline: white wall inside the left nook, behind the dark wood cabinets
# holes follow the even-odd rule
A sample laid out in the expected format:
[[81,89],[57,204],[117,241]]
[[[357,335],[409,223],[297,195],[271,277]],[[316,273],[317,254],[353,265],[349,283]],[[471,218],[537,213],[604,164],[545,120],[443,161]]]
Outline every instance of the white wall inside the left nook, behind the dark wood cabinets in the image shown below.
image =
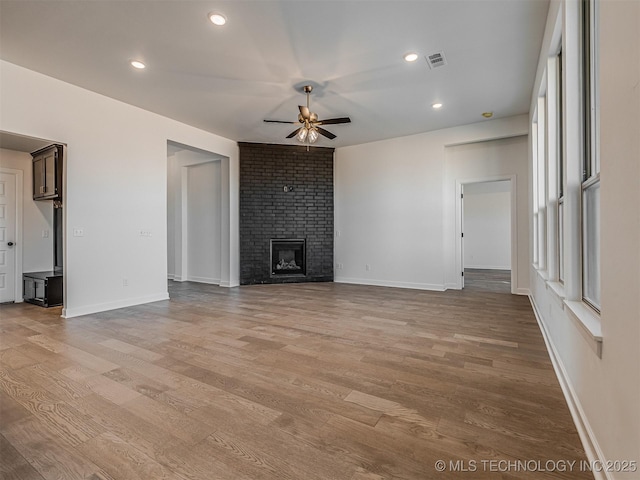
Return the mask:
[[[0,166],[23,172],[23,272],[53,270],[53,202],[51,200],[38,202],[33,200],[31,155],[28,152],[0,149]],[[44,232],[47,232],[49,236],[45,237]]]

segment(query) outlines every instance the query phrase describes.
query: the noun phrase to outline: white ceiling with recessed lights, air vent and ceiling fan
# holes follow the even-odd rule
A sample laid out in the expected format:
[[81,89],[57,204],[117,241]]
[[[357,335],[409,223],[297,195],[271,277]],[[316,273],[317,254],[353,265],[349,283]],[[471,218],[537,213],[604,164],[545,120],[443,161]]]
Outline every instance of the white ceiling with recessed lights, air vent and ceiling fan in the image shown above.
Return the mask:
[[[526,113],[548,4],[0,0],[0,57],[244,142],[296,143],[263,119],[296,120],[311,84],[321,119],[351,117],[318,142],[339,147]],[[430,70],[438,51],[448,64]]]

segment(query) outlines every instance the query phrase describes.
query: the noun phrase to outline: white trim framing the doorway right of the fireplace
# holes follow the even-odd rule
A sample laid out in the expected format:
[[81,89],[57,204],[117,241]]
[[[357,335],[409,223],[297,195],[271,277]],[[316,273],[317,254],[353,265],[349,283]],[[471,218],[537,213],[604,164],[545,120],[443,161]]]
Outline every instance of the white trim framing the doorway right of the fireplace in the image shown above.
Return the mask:
[[[456,211],[456,233],[455,233],[455,252],[456,252],[456,272],[462,272],[464,263],[462,259],[462,191],[463,185],[468,183],[485,183],[485,182],[499,182],[503,180],[509,180],[511,183],[510,191],[510,211],[511,211],[511,293],[517,293],[518,288],[518,196],[517,196],[517,176],[515,174],[495,175],[489,177],[480,178],[467,178],[456,179],[456,198],[455,198],[455,211]],[[463,286],[462,275],[458,276],[456,280],[456,289],[460,290]]]

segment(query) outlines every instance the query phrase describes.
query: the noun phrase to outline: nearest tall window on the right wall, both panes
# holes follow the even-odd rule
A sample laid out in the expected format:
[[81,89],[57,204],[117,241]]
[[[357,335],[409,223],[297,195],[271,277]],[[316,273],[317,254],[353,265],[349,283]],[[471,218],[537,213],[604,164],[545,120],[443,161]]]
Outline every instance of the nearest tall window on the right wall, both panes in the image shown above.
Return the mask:
[[600,155],[597,3],[582,0],[582,298],[600,311]]

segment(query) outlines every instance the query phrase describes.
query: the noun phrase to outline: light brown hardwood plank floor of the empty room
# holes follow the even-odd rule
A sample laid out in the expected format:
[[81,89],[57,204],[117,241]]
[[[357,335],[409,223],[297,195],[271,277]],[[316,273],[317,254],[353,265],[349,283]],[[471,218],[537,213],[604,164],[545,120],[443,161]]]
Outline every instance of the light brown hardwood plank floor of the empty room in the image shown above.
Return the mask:
[[593,478],[550,471],[586,459],[526,297],[170,295],[69,320],[0,307],[3,479]]

